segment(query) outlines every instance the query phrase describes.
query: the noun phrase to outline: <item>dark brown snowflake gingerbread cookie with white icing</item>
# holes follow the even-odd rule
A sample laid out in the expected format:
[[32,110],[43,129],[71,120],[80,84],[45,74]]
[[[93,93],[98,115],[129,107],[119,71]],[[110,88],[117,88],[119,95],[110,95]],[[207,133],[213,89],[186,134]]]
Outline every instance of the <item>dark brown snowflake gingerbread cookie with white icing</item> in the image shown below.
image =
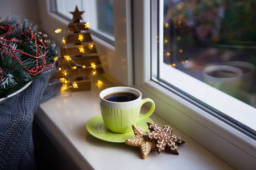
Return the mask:
[[148,129],[151,131],[147,131],[146,134],[143,135],[144,138],[155,141],[156,148],[158,149],[158,154],[164,150],[169,150],[170,152],[179,155],[179,151],[177,150],[178,145],[185,143],[185,141],[181,140],[180,137],[176,137],[172,135],[172,128],[170,126],[164,126],[163,129],[156,126],[156,124],[152,124],[151,122],[147,122]]

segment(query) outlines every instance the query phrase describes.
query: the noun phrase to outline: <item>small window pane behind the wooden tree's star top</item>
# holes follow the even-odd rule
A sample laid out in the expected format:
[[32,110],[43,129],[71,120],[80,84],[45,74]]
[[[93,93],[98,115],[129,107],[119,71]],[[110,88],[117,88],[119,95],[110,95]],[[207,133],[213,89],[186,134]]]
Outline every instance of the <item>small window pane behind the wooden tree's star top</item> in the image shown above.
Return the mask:
[[82,22],[89,23],[89,29],[96,35],[114,42],[113,0],[53,0],[53,11],[71,21],[72,12],[77,6],[82,14]]

